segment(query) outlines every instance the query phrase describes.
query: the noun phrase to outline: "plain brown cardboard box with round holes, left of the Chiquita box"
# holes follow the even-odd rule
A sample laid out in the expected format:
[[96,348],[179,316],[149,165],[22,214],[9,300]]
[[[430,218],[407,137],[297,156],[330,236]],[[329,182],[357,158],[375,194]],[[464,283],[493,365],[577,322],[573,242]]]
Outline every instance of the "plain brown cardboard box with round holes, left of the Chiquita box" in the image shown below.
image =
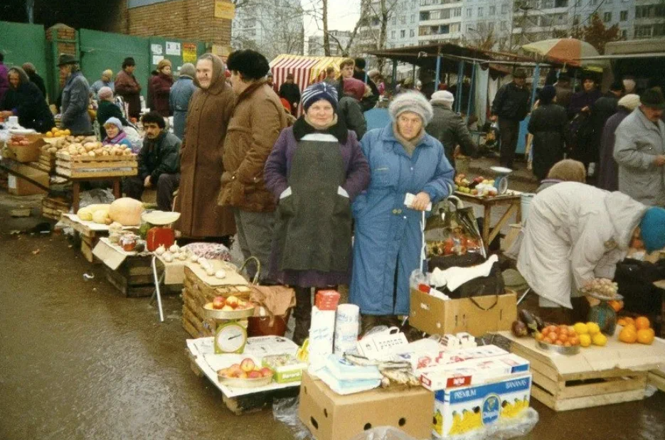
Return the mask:
[[422,387],[341,396],[303,372],[298,415],[317,440],[349,440],[377,426],[395,426],[416,439],[427,439],[433,407],[434,393]]

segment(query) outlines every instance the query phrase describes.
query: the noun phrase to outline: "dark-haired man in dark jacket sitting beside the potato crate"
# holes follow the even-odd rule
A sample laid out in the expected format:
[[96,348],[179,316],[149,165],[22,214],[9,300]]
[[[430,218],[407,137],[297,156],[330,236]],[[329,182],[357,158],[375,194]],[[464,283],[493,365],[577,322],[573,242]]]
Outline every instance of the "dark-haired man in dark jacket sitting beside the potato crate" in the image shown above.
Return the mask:
[[139,152],[139,175],[124,180],[124,193],[141,200],[145,188],[156,188],[157,207],[170,211],[180,184],[181,141],[166,132],[164,117],[155,111],[144,114],[141,122],[146,136]]

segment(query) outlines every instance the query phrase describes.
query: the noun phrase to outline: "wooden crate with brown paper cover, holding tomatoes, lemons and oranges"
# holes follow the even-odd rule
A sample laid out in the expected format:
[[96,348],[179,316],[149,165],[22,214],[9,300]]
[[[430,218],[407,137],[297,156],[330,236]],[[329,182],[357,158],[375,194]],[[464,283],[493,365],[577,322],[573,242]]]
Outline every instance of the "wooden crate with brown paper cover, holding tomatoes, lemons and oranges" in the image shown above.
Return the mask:
[[531,364],[531,396],[555,411],[644,399],[648,370],[665,361],[665,342],[640,347],[607,338],[605,346],[563,356],[538,349],[534,338],[500,334]]

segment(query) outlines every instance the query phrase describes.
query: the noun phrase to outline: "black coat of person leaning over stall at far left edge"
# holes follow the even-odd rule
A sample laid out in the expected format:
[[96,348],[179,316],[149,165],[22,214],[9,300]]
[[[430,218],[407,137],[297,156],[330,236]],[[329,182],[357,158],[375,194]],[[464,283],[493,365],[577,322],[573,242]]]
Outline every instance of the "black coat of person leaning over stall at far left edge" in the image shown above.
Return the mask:
[[9,88],[0,109],[13,111],[21,127],[46,133],[55,127],[53,113],[41,91],[33,82],[21,82],[16,89]]

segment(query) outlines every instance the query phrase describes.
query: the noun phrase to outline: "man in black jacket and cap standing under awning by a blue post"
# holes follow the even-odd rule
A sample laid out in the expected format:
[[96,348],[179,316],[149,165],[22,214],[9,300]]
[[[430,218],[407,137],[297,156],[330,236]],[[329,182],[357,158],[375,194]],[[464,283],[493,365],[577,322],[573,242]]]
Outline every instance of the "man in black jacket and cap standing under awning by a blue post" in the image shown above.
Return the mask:
[[519,123],[529,112],[531,93],[526,87],[526,72],[516,69],[513,80],[502,85],[492,102],[491,120],[499,119],[501,134],[501,166],[513,168]]

